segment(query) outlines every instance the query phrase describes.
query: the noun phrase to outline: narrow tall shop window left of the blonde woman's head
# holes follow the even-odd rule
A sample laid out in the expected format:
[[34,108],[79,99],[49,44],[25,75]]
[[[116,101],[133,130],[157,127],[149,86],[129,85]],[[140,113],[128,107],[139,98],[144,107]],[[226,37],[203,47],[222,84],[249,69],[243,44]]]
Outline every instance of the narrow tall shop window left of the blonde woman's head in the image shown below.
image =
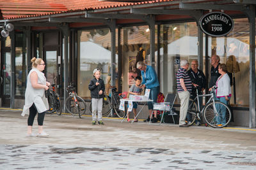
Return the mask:
[[15,95],[24,96],[26,90],[26,36],[15,34]]

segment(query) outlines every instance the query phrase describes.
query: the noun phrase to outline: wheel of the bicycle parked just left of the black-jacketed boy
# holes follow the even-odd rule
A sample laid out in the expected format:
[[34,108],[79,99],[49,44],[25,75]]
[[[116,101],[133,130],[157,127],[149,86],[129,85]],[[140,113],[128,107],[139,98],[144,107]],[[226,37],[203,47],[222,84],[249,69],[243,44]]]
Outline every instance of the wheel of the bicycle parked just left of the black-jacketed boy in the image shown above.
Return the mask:
[[86,104],[81,97],[76,96],[76,98],[77,98],[77,103],[74,100],[74,97],[69,96],[66,99],[65,107],[66,107],[68,113],[71,113],[74,116],[79,115],[79,117],[80,117],[80,115],[84,115],[84,113],[85,113]]

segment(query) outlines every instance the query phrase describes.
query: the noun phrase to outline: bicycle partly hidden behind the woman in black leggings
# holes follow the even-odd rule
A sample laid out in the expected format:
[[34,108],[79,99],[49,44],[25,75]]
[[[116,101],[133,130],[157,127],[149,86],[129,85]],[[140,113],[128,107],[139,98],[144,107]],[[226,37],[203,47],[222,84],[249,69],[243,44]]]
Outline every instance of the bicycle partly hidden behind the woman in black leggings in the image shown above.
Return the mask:
[[48,89],[45,91],[45,97],[48,98],[48,103],[49,103],[49,110],[45,111],[45,113],[54,113],[56,112],[57,115],[61,115],[61,101],[60,101],[60,95],[56,93],[56,85],[54,83],[54,78],[52,81],[53,83],[51,84],[52,89]]

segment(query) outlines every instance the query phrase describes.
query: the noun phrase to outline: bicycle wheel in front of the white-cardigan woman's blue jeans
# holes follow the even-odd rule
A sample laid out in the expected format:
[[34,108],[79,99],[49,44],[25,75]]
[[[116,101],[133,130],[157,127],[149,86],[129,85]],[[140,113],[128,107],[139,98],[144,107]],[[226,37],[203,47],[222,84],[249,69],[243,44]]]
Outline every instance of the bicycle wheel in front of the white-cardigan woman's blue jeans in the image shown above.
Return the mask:
[[[214,108],[216,108],[216,110]],[[225,113],[225,115],[223,113]],[[208,103],[205,106],[204,118],[207,124],[210,125],[211,127],[215,127],[215,128],[225,127],[230,122],[231,111],[226,104],[221,103],[219,101],[215,101],[215,106],[213,102]]]

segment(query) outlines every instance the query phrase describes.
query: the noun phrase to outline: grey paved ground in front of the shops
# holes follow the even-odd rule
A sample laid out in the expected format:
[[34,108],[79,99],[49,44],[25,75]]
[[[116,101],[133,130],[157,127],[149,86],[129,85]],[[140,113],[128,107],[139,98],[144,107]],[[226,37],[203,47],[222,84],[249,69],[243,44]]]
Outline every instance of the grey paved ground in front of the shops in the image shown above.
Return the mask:
[[0,109],[0,169],[256,169],[256,129],[109,118],[92,125],[91,117],[54,114],[45,117],[49,138],[26,138],[20,113]]

